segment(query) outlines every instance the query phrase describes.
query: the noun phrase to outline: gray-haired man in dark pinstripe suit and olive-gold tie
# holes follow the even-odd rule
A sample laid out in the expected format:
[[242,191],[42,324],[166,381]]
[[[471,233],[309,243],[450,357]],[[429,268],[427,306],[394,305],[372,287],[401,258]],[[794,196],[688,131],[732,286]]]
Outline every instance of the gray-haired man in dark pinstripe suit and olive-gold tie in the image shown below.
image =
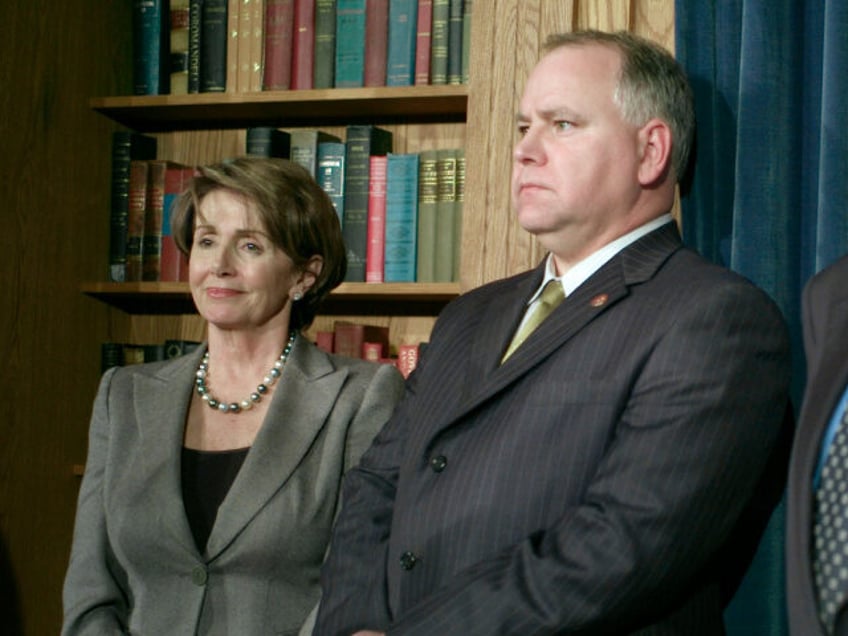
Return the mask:
[[693,128],[660,47],[549,40],[512,193],[550,254],[440,315],[348,473],[316,634],[723,632],[784,483],[790,363],[766,295],[681,246]]

